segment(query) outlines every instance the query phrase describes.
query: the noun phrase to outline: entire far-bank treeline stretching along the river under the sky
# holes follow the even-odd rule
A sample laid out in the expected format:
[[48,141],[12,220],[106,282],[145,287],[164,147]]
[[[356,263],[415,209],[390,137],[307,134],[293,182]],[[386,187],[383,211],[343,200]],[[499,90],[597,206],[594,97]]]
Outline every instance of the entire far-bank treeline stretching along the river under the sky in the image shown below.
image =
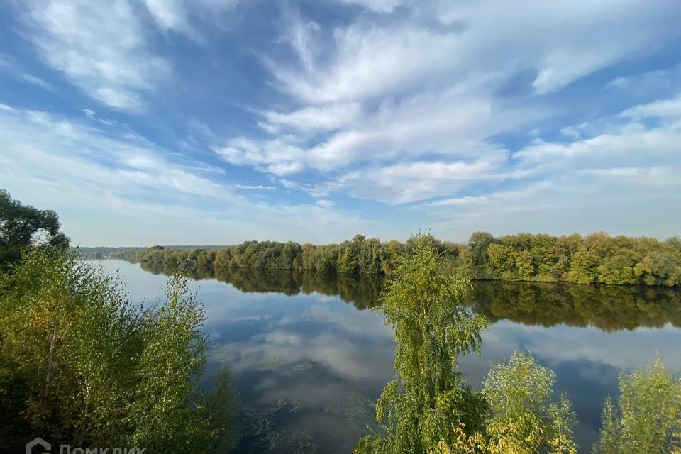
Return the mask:
[[[436,240],[451,270],[472,279],[580,284],[681,285],[681,239],[660,241],[592,233],[550,236],[519,233],[499,238],[476,232],[467,244]],[[129,250],[122,258],[147,267],[222,270],[316,270],[391,275],[412,240],[381,242],[356,235],[340,244],[311,245],[247,241],[221,249],[179,250],[154,246]]]

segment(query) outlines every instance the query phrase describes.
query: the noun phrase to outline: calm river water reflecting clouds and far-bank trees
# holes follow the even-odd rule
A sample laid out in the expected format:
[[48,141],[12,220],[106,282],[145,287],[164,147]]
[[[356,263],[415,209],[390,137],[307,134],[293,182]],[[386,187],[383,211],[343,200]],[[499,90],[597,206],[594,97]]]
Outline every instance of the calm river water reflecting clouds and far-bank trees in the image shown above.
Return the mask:
[[[102,265],[118,270],[135,301],[157,298],[165,284],[139,265]],[[213,345],[204,380],[209,386],[220,365],[231,365],[244,409],[240,452],[350,453],[393,377],[392,331],[369,310],[381,279],[253,270],[196,277]],[[531,351],[575,403],[584,453],[620,370],[657,351],[681,372],[679,289],[480,282],[470,305],[494,321],[482,356],[461,360],[470,383],[480,386],[490,362]]]

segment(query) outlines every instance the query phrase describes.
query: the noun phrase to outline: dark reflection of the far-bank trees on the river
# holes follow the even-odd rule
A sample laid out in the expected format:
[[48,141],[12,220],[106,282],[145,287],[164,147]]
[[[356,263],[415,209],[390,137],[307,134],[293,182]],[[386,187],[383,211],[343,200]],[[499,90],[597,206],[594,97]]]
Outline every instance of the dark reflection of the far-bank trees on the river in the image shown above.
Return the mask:
[[[143,269],[172,274],[168,267]],[[329,275],[292,270],[227,268],[214,272],[194,267],[193,279],[218,279],[241,292],[282,293],[289,296],[313,292],[338,296],[359,310],[380,304],[390,277],[383,275]],[[476,281],[467,305],[491,321],[509,319],[539,326],[594,326],[602,331],[681,327],[681,292],[669,287],[567,284],[553,282]]]

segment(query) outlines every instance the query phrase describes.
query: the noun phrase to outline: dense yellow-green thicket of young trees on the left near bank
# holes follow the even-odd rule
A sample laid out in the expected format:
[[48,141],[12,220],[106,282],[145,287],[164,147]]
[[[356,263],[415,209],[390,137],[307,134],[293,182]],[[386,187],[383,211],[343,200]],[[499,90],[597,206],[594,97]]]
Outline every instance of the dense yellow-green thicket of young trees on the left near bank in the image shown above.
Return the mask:
[[[233,411],[196,386],[202,309],[174,277],[167,301],[133,306],[115,277],[64,251],[27,250],[0,278],[5,438],[213,452]],[[220,382],[227,392],[228,375]],[[212,406],[211,406],[212,405]],[[211,411],[215,410],[215,411]],[[220,410],[220,411],[218,411]]]

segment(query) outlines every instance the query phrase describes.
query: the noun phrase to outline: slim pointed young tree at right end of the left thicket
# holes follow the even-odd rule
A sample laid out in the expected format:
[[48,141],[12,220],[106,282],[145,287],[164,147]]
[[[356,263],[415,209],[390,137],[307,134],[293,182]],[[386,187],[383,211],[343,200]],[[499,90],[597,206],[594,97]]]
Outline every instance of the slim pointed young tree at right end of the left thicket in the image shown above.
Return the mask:
[[202,434],[191,421],[192,393],[203,370],[206,337],[204,312],[189,294],[186,277],[172,277],[167,302],[145,312],[147,340],[139,358],[139,382],[129,415],[134,446],[160,452],[169,443],[187,452]]

